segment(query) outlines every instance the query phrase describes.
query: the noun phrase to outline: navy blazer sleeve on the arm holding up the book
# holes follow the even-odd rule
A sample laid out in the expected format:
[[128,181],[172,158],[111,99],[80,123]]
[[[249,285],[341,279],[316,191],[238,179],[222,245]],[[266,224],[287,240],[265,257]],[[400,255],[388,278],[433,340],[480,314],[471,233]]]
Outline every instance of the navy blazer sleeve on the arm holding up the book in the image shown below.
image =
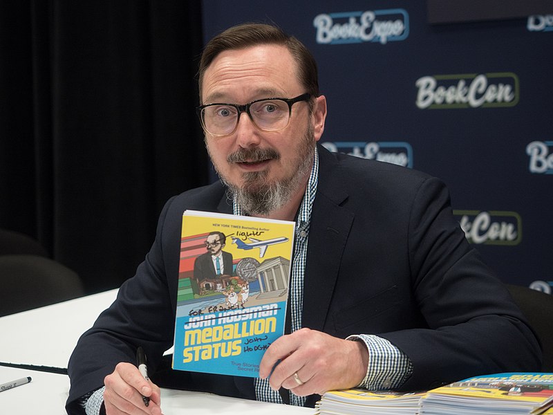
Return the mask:
[[379,333],[413,363],[403,389],[539,369],[534,333],[505,286],[467,243],[438,179],[423,181],[413,199],[409,261],[415,301],[428,327]]

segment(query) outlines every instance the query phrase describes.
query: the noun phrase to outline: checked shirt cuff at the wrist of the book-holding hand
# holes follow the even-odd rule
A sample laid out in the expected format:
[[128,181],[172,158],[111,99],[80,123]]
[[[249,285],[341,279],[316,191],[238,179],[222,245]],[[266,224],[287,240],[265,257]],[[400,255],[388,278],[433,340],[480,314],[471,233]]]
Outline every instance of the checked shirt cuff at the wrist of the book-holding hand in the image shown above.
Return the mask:
[[367,373],[357,387],[372,391],[398,389],[413,373],[411,360],[386,339],[357,334],[346,340],[362,341],[368,349]]

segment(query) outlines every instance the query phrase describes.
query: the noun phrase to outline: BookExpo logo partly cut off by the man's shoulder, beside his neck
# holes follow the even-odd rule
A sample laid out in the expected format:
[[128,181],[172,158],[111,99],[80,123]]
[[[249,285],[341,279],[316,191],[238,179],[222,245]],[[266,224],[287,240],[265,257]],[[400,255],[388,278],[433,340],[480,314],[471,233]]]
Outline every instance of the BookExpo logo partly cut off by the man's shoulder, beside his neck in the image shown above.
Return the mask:
[[413,167],[413,149],[408,142],[327,141],[323,142],[322,145],[335,153],[346,153],[350,156],[368,158],[369,160]]

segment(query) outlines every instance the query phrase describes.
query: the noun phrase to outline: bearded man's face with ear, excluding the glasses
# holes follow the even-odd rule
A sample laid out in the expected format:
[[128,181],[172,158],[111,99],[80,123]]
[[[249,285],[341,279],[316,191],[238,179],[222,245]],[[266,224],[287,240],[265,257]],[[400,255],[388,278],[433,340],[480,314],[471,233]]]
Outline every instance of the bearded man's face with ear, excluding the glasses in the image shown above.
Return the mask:
[[[306,92],[292,55],[277,45],[219,54],[204,73],[202,89],[203,104],[247,104],[261,98],[294,98]],[[314,114],[310,114],[308,102],[294,104],[290,124],[279,131],[261,131],[242,113],[236,131],[229,136],[206,133],[207,150],[218,174],[230,187],[251,194],[264,195],[275,183],[292,183],[296,187],[292,193],[303,194],[315,142],[324,129],[326,102],[321,110],[321,101],[324,97],[317,98]]]

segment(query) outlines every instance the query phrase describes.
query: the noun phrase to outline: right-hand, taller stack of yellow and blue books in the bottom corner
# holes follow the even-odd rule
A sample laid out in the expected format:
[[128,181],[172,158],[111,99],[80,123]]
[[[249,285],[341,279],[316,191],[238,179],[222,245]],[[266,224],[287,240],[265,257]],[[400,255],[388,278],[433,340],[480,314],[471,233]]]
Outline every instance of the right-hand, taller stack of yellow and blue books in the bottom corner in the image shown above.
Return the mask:
[[553,374],[504,373],[474,376],[429,391],[421,414],[552,413]]

